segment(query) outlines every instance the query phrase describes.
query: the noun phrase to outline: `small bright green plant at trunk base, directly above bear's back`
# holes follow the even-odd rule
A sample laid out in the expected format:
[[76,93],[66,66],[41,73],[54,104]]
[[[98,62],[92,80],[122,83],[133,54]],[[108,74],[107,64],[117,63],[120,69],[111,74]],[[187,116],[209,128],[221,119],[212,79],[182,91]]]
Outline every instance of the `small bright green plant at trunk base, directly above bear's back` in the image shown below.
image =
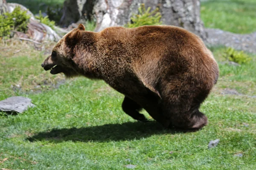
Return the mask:
[[141,4],[141,6],[138,8],[139,14],[134,15],[131,17],[131,23],[128,23],[126,27],[128,28],[135,28],[138,26],[150,26],[150,25],[160,25],[162,22],[161,14],[158,12],[158,8],[156,8],[154,11],[150,11],[150,7],[145,9],[145,4]]

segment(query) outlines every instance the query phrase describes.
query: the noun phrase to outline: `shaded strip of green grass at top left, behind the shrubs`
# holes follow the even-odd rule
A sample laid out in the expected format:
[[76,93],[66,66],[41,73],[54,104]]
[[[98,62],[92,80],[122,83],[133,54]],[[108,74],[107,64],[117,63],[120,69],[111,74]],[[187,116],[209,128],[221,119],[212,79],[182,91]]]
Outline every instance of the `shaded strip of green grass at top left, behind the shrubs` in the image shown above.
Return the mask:
[[63,6],[65,0],[7,0],[8,3],[19,3],[29,8],[33,14],[38,14],[39,10],[46,11],[47,6]]

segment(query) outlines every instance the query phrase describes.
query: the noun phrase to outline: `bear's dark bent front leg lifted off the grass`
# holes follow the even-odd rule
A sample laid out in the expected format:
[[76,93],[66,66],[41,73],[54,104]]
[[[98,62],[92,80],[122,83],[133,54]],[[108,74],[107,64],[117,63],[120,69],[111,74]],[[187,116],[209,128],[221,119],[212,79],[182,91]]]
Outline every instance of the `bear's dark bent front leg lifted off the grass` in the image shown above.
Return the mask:
[[126,96],[124,101],[122,102],[122,109],[126,114],[128,114],[135,120],[139,120],[141,122],[148,122],[148,119],[146,119],[143,114],[139,113],[142,107]]

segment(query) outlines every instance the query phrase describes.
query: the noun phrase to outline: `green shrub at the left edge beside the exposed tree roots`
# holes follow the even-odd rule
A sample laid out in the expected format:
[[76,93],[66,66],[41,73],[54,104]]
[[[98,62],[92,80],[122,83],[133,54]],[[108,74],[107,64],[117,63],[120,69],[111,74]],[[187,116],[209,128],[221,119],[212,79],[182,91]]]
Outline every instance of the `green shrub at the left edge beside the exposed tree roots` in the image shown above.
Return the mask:
[[0,37],[9,36],[12,30],[26,32],[30,16],[17,6],[11,13],[0,15]]

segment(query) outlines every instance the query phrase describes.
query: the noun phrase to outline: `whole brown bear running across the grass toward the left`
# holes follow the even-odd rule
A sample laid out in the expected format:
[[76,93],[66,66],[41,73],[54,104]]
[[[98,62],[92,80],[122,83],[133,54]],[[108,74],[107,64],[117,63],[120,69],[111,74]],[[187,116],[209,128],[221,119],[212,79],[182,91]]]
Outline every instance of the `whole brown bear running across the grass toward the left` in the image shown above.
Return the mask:
[[[41,65],[51,74],[102,79],[125,95],[122,109],[136,120],[144,108],[164,127],[197,130],[198,111],[218,79],[218,64],[195,34],[175,26],[110,27],[67,33]],[[55,67],[54,67],[55,66]]]

